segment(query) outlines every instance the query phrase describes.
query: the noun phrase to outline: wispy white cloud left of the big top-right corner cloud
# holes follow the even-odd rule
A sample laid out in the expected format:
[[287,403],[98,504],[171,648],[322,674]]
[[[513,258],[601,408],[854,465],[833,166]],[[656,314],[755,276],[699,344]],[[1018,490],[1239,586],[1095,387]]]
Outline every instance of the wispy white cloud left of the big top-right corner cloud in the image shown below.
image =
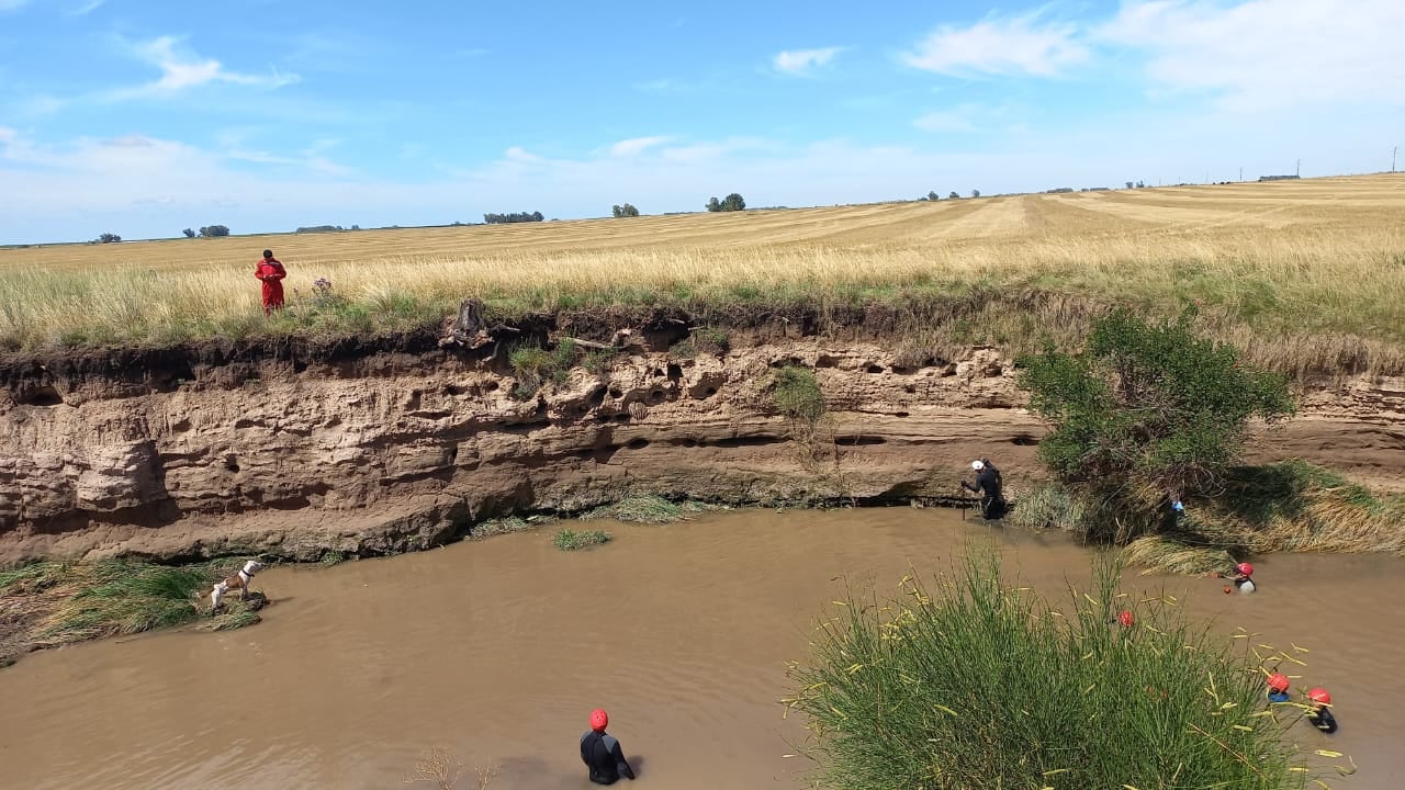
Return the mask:
[[943,25],[917,44],[903,62],[915,69],[948,76],[1034,75],[1059,76],[1089,59],[1078,28],[1044,22],[1040,13],[986,17],[971,27]]

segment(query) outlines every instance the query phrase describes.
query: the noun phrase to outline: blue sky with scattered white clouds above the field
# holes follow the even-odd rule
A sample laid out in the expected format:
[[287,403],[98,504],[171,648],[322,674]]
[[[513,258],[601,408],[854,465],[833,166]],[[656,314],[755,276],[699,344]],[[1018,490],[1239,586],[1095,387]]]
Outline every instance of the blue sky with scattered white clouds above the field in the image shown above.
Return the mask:
[[1384,170],[1345,8],[0,0],[0,243]]

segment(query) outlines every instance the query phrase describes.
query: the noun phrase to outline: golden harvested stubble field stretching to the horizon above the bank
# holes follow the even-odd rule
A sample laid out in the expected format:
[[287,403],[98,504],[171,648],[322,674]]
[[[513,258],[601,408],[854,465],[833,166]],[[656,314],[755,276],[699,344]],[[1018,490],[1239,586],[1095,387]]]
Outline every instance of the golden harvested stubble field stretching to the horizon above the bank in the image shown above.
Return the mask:
[[0,343],[257,333],[264,247],[287,264],[294,304],[327,278],[358,329],[443,315],[469,295],[511,312],[993,287],[1165,309],[1198,299],[1256,335],[1405,340],[1405,174],[1383,174],[7,249]]

